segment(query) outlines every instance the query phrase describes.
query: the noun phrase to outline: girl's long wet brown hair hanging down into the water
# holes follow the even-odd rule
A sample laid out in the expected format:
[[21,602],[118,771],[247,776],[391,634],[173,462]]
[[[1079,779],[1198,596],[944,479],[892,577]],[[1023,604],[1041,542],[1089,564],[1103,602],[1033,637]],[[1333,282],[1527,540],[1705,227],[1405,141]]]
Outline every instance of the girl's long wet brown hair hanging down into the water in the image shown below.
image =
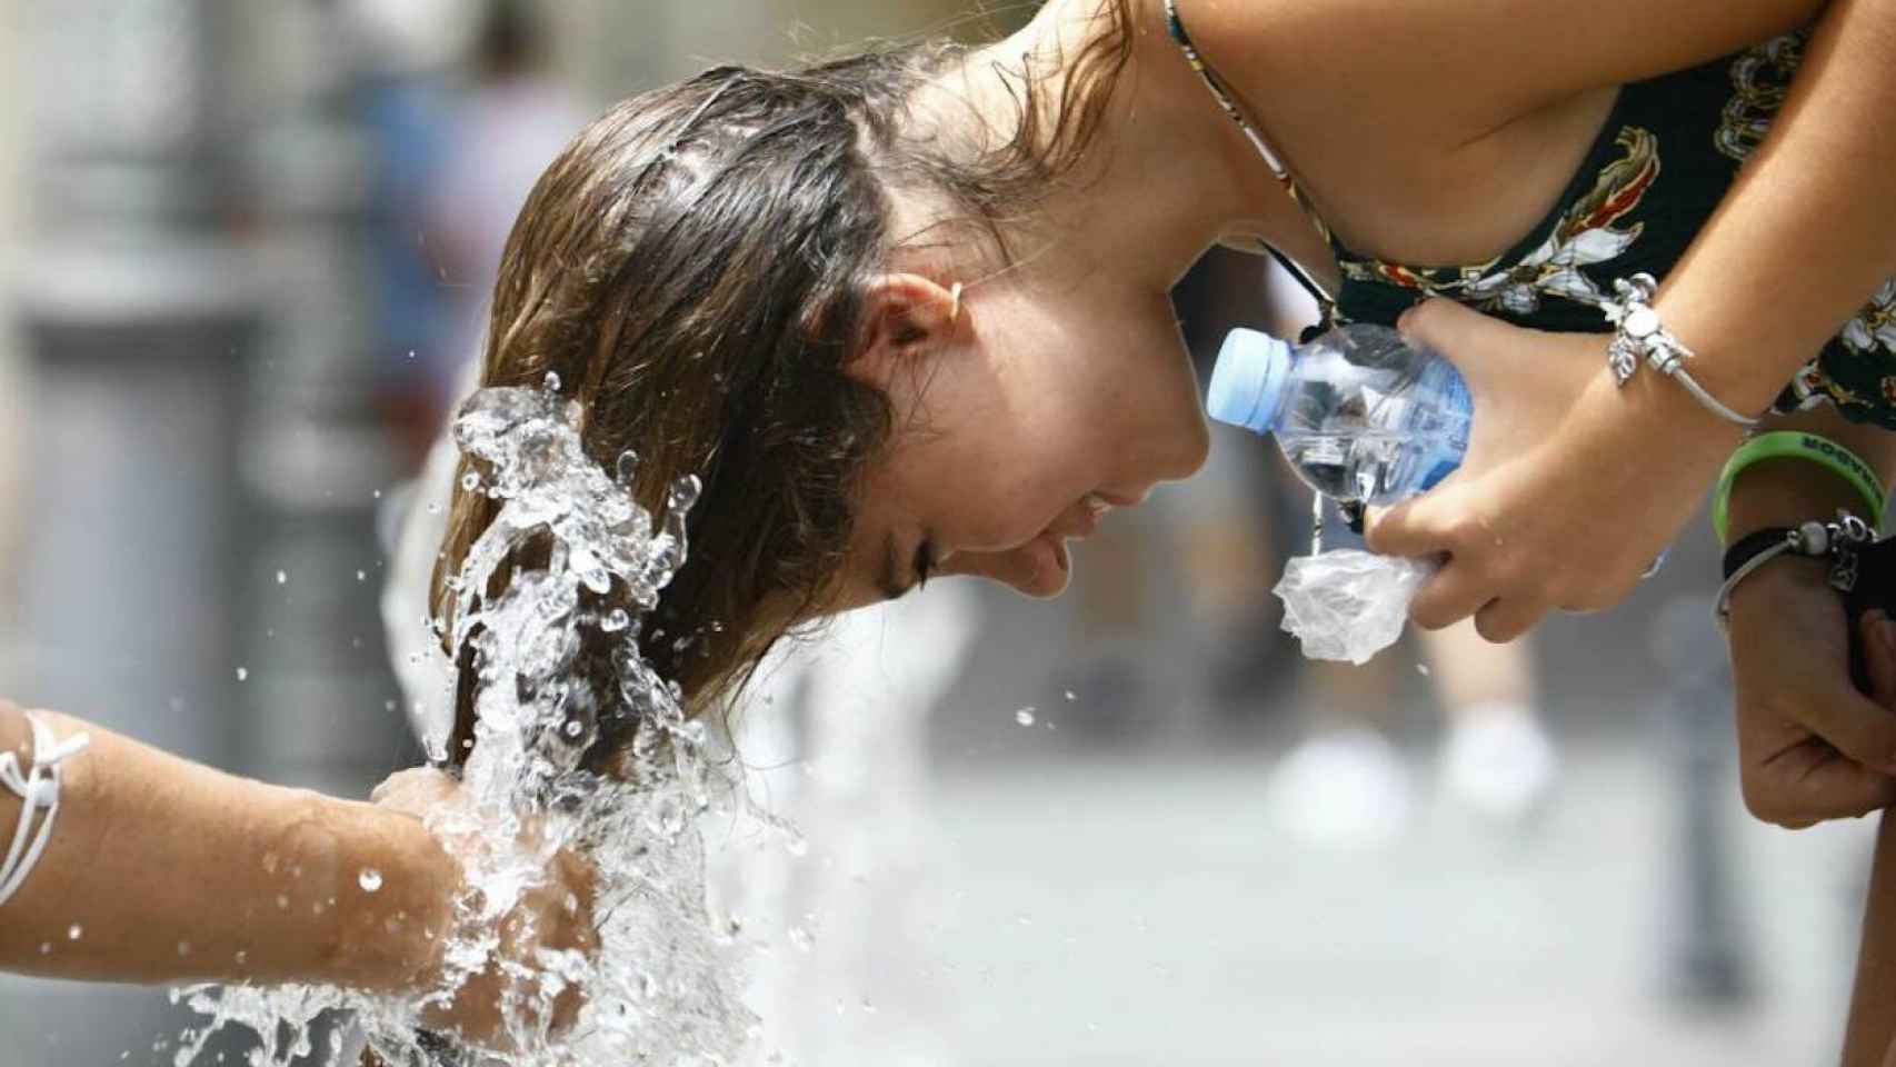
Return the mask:
[[[1132,53],[1130,6],[1102,0],[1071,55],[1005,70],[1018,108],[1007,138],[921,131],[916,93],[967,51],[912,44],[794,72],[720,66],[645,93],[533,188],[501,260],[482,385],[557,373],[588,455],[611,470],[637,453],[633,493],[654,514],[673,479],[703,479],[686,563],[641,633],[690,714],[728,707],[779,639],[834,605],[853,495],[893,428],[887,396],[848,373],[866,343],[866,286],[901,239],[891,191],[937,197],[1005,260],[1003,222],[1094,142]],[[480,491],[455,489],[432,591],[444,618],[444,580],[493,515]],[[521,555],[510,565],[544,565]],[[603,644],[582,656],[580,680],[614,692]],[[470,688],[455,752],[472,737]],[[605,722],[601,745],[626,728]]]

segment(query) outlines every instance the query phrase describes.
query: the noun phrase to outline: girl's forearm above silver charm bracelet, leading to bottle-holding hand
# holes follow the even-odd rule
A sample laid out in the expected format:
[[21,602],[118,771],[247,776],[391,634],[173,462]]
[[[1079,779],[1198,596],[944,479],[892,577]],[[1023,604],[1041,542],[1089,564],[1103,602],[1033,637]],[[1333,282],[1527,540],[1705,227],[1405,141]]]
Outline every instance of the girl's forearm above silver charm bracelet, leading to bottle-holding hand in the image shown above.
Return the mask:
[[1896,0],[1826,8],[1771,135],[1659,296],[1693,371],[1761,411],[1896,273]]

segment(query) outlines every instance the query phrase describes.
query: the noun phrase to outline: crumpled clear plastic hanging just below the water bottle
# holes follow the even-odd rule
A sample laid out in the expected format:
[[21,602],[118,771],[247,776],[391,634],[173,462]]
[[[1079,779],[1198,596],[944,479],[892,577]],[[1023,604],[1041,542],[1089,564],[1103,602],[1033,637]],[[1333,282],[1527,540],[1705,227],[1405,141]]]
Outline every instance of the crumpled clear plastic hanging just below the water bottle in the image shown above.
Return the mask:
[[1409,601],[1435,569],[1433,561],[1356,550],[1299,555],[1274,589],[1284,601],[1284,629],[1303,641],[1310,660],[1369,663],[1403,635]]

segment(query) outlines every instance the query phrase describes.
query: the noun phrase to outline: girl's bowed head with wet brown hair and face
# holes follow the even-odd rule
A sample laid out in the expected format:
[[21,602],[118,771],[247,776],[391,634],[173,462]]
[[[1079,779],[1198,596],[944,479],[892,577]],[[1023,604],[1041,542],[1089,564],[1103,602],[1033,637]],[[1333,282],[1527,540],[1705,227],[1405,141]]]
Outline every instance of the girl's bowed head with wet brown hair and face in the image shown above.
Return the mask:
[[[654,512],[679,476],[703,481],[641,637],[692,711],[918,569],[1054,593],[1058,534],[1200,461],[1164,294],[1050,288],[1033,262],[1058,250],[1022,254],[1022,220],[1107,116],[1128,6],[1105,0],[1056,74],[1020,70],[1005,123],[942,91],[969,61],[954,45],[717,68],[612,108],[535,186],[482,385],[556,371],[592,459],[637,453]],[[491,517],[457,489],[438,610]]]

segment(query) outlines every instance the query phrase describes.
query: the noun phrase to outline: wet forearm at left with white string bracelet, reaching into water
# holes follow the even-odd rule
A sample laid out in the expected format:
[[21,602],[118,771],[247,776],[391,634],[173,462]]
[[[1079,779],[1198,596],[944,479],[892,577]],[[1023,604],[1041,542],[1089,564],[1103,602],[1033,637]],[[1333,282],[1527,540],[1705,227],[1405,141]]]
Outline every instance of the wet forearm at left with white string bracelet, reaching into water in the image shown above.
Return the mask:
[[[446,923],[455,866],[419,821],[271,787],[53,713],[66,760],[57,824],[0,906],[0,970],[106,982],[413,984]],[[0,705],[0,751],[28,760]],[[19,819],[0,788],[0,843]],[[370,893],[362,872],[381,876]],[[370,883],[375,879],[372,877]]]

